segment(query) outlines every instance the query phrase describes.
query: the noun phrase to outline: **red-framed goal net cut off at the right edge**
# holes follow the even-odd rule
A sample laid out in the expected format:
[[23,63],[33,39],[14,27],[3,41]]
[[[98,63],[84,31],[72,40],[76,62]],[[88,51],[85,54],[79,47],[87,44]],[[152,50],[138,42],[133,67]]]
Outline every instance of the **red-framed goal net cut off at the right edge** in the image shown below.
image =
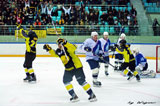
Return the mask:
[[160,73],[160,46],[156,46],[156,72]]

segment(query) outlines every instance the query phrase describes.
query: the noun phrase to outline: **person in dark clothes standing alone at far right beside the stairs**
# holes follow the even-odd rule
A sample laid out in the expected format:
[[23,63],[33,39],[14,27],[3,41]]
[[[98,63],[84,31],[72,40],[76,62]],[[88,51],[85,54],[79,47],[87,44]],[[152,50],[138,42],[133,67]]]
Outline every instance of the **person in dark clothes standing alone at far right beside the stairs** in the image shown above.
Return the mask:
[[154,31],[154,36],[157,36],[158,33],[160,33],[160,24],[159,24],[157,18],[154,19],[152,27],[153,27],[153,31]]

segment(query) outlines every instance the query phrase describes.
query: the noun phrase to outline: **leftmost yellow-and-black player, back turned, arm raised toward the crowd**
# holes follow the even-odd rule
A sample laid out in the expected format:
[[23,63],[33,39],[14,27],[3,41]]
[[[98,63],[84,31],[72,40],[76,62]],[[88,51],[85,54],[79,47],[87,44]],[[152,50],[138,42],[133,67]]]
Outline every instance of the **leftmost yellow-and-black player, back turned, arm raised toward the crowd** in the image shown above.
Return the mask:
[[22,34],[22,37],[25,39],[26,44],[25,61],[23,64],[26,73],[26,78],[24,78],[24,81],[29,83],[35,83],[36,76],[34,73],[34,69],[32,68],[32,63],[36,58],[36,44],[38,36],[34,31],[32,31],[33,26],[30,26],[28,34],[24,31],[20,24],[17,24],[17,28],[20,30],[20,33]]

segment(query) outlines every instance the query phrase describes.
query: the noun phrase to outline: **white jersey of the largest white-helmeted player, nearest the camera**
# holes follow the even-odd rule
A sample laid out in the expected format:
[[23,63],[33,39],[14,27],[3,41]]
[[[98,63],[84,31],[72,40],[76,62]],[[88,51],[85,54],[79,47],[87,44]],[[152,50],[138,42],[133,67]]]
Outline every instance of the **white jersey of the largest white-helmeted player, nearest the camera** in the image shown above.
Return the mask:
[[[97,44],[97,42],[95,42],[92,38],[88,38],[83,42],[81,49],[84,50],[85,47],[90,47],[93,50],[93,48],[96,46],[96,44]],[[86,60],[90,60],[90,59],[98,60],[99,57],[94,55],[92,51],[86,52]]]

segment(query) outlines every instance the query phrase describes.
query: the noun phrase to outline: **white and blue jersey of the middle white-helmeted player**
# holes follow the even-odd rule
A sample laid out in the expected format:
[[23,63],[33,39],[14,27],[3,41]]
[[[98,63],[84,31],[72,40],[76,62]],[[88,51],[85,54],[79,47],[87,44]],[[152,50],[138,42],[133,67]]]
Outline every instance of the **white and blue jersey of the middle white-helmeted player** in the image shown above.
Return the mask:
[[102,51],[104,53],[104,56],[108,56],[109,55],[109,46],[111,44],[110,40],[107,39],[105,40],[104,38],[100,38],[99,41],[101,42],[101,47],[102,47]]

